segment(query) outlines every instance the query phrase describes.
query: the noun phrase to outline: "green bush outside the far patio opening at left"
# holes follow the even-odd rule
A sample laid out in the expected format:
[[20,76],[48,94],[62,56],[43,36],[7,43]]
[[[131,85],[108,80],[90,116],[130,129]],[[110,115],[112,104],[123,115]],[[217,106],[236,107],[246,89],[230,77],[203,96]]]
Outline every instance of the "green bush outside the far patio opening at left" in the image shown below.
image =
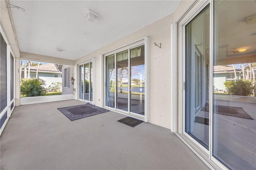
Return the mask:
[[22,79],[20,94],[24,97],[44,96],[46,93],[45,81],[40,79]]

